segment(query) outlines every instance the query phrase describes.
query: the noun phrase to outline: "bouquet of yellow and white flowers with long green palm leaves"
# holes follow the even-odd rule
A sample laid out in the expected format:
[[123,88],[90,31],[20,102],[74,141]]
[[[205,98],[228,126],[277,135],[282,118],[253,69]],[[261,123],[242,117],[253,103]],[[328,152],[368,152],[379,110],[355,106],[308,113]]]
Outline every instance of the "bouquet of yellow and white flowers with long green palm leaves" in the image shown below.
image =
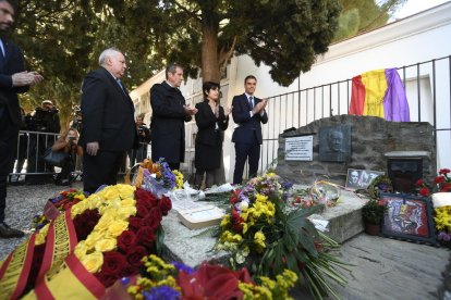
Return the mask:
[[214,250],[230,252],[233,268],[248,266],[259,276],[277,276],[288,268],[302,274],[317,297],[337,296],[328,279],[344,285],[337,270],[343,264],[327,250],[338,243],[306,218],[322,205],[293,210],[287,201],[289,188],[280,182],[269,173],[232,192]]

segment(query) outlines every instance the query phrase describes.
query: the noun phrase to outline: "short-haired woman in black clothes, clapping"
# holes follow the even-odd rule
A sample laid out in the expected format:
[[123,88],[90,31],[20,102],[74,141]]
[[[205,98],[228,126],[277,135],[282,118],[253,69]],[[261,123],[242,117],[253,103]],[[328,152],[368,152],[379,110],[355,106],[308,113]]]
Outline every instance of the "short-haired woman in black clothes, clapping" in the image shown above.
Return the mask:
[[206,82],[203,85],[204,101],[196,104],[196,124],[198,127],[195,145],[195,186],[202,186],[206,173],[205,187],[220,184],[217,170],[221,166],[222,141],[229,126],[230,110],[219,104],[219,84]]

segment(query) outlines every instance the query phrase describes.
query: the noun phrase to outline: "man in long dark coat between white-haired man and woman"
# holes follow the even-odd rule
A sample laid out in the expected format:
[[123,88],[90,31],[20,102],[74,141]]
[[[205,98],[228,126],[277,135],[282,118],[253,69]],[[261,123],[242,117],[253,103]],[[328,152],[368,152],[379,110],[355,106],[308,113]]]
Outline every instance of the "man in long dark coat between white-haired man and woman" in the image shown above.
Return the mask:
[[166,67],[166,80],[150,88],[151,105],[151,159],[164,158],[171,170],[179,170],[185,158],[185,125],[197,112],[186,105],[179,90],[183,80],[183,68],[178,64]]

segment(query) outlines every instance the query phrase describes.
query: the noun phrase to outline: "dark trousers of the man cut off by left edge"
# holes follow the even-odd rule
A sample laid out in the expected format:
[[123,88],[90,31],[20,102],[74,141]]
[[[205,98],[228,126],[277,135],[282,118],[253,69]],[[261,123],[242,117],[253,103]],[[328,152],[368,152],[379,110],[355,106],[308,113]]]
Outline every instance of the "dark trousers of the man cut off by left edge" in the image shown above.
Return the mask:
[[7,111],[0,114],[0,222],[3,222],[8,175],[13,171],[17,151],[19,125],[11,122]]

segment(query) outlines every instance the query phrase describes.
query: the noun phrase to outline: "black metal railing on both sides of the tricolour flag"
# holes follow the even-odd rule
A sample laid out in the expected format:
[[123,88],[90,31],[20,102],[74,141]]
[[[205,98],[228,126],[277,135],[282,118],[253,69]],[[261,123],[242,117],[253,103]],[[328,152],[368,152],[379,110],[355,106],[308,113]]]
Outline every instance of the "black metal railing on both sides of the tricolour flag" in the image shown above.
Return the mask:
[[[451,55],[398,67],[404,84],[411,122],[429,122],[436,132],[437,164],[451,165]],[[302,82],[302,77],[300,78]],[[277,164],[278,138],[283,130],[316,120],[348,114],[352,79],[270,97],[269,121],[263,126],[259,171]]]

